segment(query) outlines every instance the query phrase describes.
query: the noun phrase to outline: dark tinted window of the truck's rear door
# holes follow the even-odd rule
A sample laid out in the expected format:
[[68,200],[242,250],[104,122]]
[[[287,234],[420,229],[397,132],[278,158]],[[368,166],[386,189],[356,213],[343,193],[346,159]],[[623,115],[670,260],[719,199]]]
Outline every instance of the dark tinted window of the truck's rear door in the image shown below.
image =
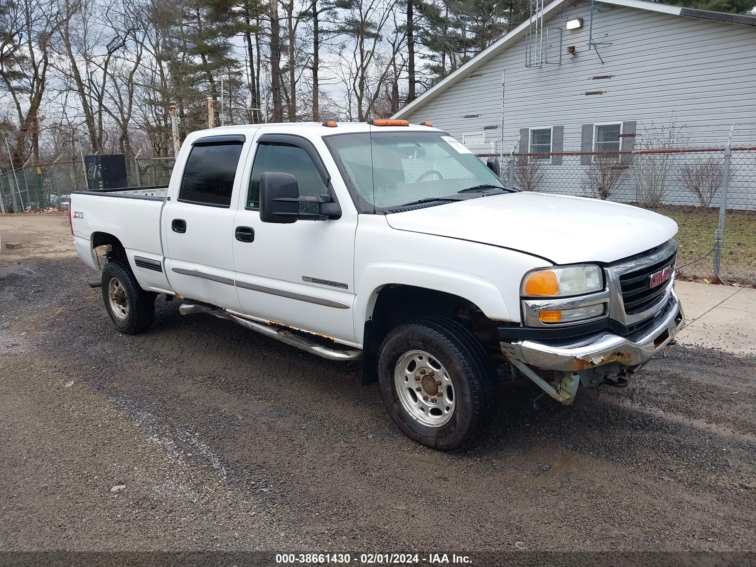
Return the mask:
[[242,144],[206,144],[192,147],[181,178],[178,200],[200,205],[231,206]]

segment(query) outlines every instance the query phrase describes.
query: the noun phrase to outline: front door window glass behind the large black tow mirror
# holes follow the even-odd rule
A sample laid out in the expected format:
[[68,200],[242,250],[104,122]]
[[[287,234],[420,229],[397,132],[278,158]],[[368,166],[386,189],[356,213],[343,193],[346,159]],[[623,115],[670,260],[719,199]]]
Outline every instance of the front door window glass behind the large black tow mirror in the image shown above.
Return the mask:
[[291,144],[262,142],[255,154],[246,206],[253,209],[260,206],[260,175],[265,172],[290,173],[296,177],[300,195],[328,193],[318,169],[315,169],[315,164],[305,150]]

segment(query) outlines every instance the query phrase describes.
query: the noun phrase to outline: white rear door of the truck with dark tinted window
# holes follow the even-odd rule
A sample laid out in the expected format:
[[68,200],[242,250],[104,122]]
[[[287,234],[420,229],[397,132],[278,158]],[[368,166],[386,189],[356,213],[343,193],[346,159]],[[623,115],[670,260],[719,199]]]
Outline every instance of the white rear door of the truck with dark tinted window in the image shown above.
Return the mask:
[[231,240],[245,141],[244,135],[195,140],[178,198],[163,209],[166,276],[172,290],[234,311],[240,311],[240,305]]

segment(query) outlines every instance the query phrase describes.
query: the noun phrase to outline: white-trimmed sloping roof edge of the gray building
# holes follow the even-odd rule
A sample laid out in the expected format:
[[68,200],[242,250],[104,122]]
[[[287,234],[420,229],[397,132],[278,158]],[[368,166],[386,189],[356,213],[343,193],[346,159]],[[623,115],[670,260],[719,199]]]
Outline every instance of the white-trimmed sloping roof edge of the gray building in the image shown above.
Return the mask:
[[[561,9],[562,5],[566,2],[570,2],[570,0],[554,0],[554,2],[547,5],[543,10],[544,20],[547,20],[549,15],[557,9]],[[747,14],[727,14],[725,12],[715,12],[711,10],[696,10],[693,8],[682,8],[681,6],[660,4],[658,2],[647,2],[647,0],[595,0],[595,2],[623,6],[625,8],[638,8],[639,10],[661,12],[662,14],[671,14],[674,16],[696,17],[702,20],[741,23],[746,26],[756,26],[756,16],[750,16]],[[456,82],[459,82],[460,79],[466,77],[473,70],[476,70],[482,64],[488,63],[489,60],[496,57],[522,36],[525,36],[525,33],[528,31],[529,23],[530,20],[525,20],[519,24],[519,26],[510,31],[510,33],[507,33],[507,35],[503,36],[497,42],[488,46],[488,48],[481,51],[475,57],[472,57],[472,59],[467,61],[466,64],[437,82],[410,104],[402,107],[394,116],[392,116],[392,118],[406,118],[415,110],[422,107],[423,104],[426,104],[438,95],[441,95],[447,88],[451,87],[451,85],[454,85]]]

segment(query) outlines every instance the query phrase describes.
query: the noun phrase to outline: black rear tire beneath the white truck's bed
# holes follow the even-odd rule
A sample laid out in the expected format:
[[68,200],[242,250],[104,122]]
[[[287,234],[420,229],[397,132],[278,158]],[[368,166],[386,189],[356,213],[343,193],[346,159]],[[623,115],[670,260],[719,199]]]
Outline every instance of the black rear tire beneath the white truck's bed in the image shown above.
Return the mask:
[[[110,302],[111,282],[117,289],[116,303],[122,306],[118,314]],[[155,318],[156,295],[139,286],[126,262],[113,260],[105,265],[102,271],[102,299],[107,314],[121,333],[134,335],[150,328]],[[119,299],[124,299],[125,304]]]

